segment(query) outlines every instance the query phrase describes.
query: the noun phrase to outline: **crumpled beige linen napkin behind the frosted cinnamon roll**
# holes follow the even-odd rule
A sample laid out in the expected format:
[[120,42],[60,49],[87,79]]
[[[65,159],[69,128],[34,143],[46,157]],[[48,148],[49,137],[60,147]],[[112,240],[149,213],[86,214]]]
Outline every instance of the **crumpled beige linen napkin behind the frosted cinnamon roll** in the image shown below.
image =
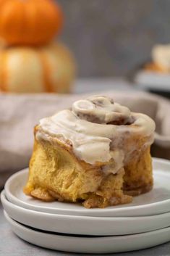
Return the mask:
[[[102,94],[102,93],[100,93]],[[156,121],[153,156],[170,159],[170,102],[142,92],[103,93],[130,110],[143,112]],[[33,127],[42,117],[69,107],[85,94],[0,94],[0,187],[14,171],[26,168],[33,150]]]

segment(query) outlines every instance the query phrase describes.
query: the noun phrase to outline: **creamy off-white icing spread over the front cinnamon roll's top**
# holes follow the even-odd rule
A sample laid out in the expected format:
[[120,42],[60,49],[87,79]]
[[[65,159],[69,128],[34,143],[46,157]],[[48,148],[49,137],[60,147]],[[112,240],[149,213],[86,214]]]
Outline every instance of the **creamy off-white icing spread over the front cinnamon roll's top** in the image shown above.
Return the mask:
[[[90,164],[108,162],[128,153],[126,138],[132,135],[151,137],[155,123],[147,115],[133,113],[106,96],[91,96],[40,121],[39,136],[70,141],[75,155]],[[136,143],[136,141],[135,141]],[[135,149],[135,144],[134,146]],[[119,152],[119,154],[118,154]]]

